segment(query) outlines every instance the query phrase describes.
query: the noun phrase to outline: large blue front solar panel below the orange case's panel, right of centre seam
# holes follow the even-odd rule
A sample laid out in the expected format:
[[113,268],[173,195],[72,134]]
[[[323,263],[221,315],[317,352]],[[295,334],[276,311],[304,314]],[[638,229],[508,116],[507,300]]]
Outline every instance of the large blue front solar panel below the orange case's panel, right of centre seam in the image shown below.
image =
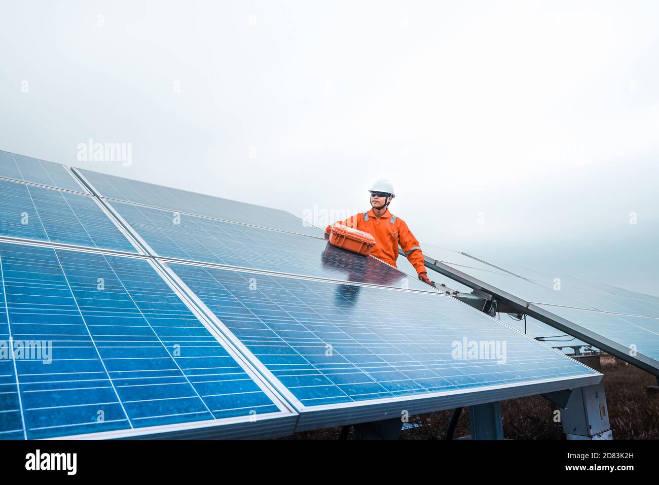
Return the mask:
[[[296,430],[510,399],[601,377],[442,294],[167,266],[302,412]],[[507,360],[453,358],[455,342],[465,339],[505,342]]]

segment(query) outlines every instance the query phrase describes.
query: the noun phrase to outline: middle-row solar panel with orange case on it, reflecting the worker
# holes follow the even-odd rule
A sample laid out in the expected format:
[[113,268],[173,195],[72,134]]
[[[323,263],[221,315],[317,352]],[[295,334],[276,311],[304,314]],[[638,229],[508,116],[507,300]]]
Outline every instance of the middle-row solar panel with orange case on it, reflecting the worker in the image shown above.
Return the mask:
[[324,239],[127,203],[111,205],[161,257],[434,291],[374,257],[337,249]]

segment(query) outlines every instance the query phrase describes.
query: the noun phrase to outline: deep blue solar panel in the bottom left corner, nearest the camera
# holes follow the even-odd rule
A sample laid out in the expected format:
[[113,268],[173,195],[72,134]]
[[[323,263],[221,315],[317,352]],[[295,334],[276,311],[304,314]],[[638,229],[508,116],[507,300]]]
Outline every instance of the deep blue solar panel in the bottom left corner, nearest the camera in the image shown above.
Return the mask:
[[0,437],[281,414],[146,259],[0,243],[0,276],[0,341],[45,351],[0,359]]

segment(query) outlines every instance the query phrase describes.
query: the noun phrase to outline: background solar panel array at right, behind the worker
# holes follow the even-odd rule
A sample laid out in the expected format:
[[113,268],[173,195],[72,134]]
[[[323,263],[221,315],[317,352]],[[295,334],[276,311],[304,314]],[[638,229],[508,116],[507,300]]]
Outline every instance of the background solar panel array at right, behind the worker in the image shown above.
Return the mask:
[[[560,273],[484,261],[433,247],[442,274],[527,308],[527,313],[659,375],[659,298]],[[457,256],[459,255],[459,256]]]

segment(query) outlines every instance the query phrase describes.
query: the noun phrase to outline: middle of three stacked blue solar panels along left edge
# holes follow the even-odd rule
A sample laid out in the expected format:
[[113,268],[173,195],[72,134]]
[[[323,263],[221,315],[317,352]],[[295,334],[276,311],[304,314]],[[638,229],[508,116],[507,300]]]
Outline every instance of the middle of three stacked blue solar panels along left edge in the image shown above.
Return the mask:
[[96,198],[0,179],[0,236],[136,253]]

